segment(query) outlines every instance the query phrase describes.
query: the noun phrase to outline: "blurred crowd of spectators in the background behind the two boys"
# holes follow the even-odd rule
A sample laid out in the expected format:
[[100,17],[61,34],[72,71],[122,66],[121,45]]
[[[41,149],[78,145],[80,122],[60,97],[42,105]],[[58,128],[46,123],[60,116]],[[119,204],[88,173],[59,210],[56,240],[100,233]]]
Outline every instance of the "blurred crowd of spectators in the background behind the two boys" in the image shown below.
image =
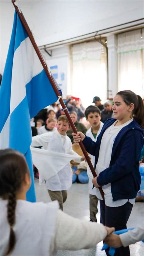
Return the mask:
[[[87,129],[90,128],[89,122],[86,122],[85,118],[85,108],[82,105],[81,99],[77,97],[73,97],[71,95],[67,95],[66,99],[64,100],[65,105],[67,106],[67,109],[70,113],[70,116],[77,128],[78,131],[81,131],[83,133],[86,133]],[[97,106],[98,109],[101,111],[101,122],[105,122],[109,118],[113,118],[113,112],[112,112],[112,101],[106,100],[104,104],[101,104],[101,99],[98,96],[95,96],[93,98],[93,101],[91,102],[94,106]],[[91,105],[90,103],[90,105]],[[47,124],[48,119],[58,119],[59,116],[65,114],[61,105],[57,103],[53,103],[52,105],[48,106],[45,109],[42,109],[38,112],[38,114],[34,117],[35,127],[38,131],[38,134],[42,134],[44,132],[47,132]],[[32,120],[33,122],[33,120]],[[33,125],[32,125],[33,126]],[[41,128],[43,127],[43,129]],[[56,126],[55,126],[56,127]],[[49,129],[49,128],[48,128]],[[43,132],[39,132],[43,131]],[[51,129],[50,129],[51,130]],[[72,129],[70,129],[67,132],[67,136],[70,137],[71,140],[72,136]]]

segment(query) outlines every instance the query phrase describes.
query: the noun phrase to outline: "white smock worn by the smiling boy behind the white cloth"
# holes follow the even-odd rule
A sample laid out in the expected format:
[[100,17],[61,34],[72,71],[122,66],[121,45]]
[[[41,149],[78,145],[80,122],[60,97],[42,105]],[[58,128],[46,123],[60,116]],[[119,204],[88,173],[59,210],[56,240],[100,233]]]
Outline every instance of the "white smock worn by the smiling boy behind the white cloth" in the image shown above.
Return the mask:
[[[72,149],[72,143],[67,135],[61,135],[58,131],[53,133],[43,133],[34,136],[32,139],[32,147],[43,146],[44,149],[74,155],[74,160],[81,162],[79,156]],[[42,178],[42,177],[41,177]],[[56,175],[46,181],[46,188],[51,191],[61,191],[70,189],[72,185],[72,170],[70,163],[64,166]]]

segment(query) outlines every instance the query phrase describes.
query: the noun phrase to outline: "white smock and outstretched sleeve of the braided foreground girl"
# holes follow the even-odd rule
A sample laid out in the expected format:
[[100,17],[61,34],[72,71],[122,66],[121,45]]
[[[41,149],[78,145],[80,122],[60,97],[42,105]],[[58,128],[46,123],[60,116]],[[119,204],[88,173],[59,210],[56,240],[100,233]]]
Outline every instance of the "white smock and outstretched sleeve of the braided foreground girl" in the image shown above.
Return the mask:
[[[10,227],[7,200],[0,200],[0,255],[6,252]],[[58,209],[58,202],[48,204],[17,200],[14,231],[16,244],[11,256],[56,256],[57,250],[94,247],[107,236],[100,223],[78,220]]]

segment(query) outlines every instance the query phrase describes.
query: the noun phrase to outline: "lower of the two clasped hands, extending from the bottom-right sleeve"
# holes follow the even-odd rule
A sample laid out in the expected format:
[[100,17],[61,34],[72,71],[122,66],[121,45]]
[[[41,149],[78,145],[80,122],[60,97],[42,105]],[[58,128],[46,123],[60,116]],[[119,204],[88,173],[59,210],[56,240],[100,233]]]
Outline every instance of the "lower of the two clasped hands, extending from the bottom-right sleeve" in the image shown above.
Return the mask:
[[107,244],[110,247],[118,248],[122,246],[121,239],[119,235],[116,234],[110,234],[105,238],[105,244]]

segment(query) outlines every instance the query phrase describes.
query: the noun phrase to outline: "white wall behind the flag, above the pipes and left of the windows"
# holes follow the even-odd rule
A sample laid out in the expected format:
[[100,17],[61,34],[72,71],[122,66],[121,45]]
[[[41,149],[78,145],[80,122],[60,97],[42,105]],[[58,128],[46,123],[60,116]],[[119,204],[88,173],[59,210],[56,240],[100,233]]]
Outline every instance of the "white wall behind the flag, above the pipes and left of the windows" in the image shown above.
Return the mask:
[[[39,46],[140,19],[144,13],[144,2],[139,0],[20,0],[19,5]],[[0,0],[0,7],[0,73],[3,74],[14,7],[10,0]],[[59,72],[65,73],[64,97],[70,94],[68,55],[68,47],[53,50],[52,57],[45,54],[49,66],[58,64]]]

